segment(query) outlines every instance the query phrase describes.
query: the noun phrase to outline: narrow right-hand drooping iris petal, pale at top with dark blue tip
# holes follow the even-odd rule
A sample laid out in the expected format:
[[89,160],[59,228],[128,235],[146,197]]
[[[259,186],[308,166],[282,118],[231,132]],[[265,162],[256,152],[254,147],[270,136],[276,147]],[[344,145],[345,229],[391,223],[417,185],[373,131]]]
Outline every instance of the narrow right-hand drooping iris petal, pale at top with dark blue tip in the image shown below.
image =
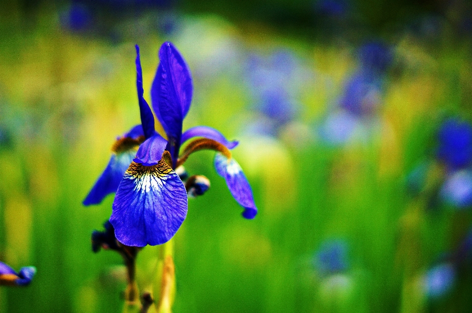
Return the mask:
[[244,207],[242,216],[253,219],[257,214],[257,207],[252,196],[251,186],[236,160],[228,159],[221,153],[215,156],[215,168],[219,175],[226,179],[226,184],[236,201]]

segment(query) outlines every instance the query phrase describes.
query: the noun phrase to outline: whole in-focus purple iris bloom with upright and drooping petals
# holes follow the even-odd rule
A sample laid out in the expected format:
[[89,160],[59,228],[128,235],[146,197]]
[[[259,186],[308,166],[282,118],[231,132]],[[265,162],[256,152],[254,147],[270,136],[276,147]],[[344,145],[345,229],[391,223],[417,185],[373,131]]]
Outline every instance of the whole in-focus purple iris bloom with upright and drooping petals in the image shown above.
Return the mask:
[[[203,186],[205,179],[195,176],[184,183],[174,170],[192,153],[211,149],[218,152],[216,171],[225,178],[231,194],[244,207],[243,217],[254,218],[257,208],[251,187],[230,151],[237,142],[228,141],[219,131],[207,126],[182,132],[182,122],[192,101],[193,84],[190,70],[177,48],[170,42],[161,46],[160,63],[151,87],[152,108],[167,140],[155,131],[154,115],[143,96],[138,46],[136,51],[141,125],[118,138],[107,168],[84,204],[100,203],[106,195],[116,192],[110,223],[118,241],[136,247],[165,243],[187,215],[187,193],[196,196],[209,187],[209,183],[206,188]],[[189,140],[192,141],[181,151],[180,146]]]

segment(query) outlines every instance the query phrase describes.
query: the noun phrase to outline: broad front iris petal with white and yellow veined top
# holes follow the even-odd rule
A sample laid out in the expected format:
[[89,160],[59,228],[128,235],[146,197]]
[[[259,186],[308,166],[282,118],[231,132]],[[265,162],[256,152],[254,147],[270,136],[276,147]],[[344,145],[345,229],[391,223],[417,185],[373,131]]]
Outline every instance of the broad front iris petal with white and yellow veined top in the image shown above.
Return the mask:
[[162,159],[157,165],[132,163],[118,187],[110,218],[119,242],[159,245],[171,239],[187,215],[187,192]]

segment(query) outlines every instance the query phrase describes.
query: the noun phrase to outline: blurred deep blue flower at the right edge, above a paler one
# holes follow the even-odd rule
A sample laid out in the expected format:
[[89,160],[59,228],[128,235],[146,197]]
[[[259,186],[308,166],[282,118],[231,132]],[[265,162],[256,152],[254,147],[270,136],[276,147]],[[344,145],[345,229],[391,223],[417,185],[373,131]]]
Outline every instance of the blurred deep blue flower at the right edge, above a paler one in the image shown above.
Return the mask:
[[472,161],[472,126],[450,118],[442,123],[438,134],[437,155],[452,170],[465,168]]

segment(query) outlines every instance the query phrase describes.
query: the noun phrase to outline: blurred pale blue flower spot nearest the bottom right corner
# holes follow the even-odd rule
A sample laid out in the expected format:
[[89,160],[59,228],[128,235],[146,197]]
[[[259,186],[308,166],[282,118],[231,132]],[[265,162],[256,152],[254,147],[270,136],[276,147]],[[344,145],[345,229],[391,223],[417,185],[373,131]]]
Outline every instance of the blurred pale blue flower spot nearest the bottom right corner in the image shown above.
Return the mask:
[[450,263],[442,263],[428,270],[424,277],[425,294],[439,298],[449,292],[454,284],[456,271]]

